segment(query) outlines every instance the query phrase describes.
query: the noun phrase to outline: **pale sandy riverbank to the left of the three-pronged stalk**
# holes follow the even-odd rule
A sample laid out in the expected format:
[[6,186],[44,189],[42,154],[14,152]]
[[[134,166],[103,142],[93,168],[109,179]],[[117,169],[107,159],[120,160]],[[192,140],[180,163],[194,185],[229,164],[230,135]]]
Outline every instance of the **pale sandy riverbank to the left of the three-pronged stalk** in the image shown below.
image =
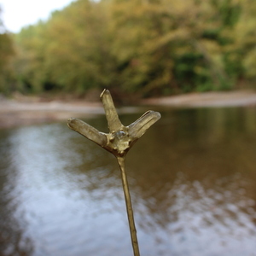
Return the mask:
[[32,125],[104,113],[100,102],[0,100],[0,128]]

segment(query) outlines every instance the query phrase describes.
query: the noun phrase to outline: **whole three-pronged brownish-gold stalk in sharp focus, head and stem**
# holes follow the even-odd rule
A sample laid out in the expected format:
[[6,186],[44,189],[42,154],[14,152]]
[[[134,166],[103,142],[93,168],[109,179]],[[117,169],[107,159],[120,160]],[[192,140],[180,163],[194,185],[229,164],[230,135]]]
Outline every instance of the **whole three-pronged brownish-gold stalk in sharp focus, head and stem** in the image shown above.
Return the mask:
[[108,120],[109,133],[103,133],[96,128],[84,123],[80,119],[68,119],[67,125],[73,131],[79,132],[94,143],[105,148],[112,153],[118,160],[123,189],[125,194],[126,210],[131,232],[131,243],[134,256],[139,256],[139,247],[137,242],[137,231],[135,227],[133,211],[131,206],[131,196],[125,172],[125,155],[137,140],[143,136],[151,125],[160,119],[160,113],[147,111],[134,123],[128,126],[122,125],[119,120],[118,113],[113,105],[113,99],[109,90],[103,90],[101,100],[105,109],[106,118]]

